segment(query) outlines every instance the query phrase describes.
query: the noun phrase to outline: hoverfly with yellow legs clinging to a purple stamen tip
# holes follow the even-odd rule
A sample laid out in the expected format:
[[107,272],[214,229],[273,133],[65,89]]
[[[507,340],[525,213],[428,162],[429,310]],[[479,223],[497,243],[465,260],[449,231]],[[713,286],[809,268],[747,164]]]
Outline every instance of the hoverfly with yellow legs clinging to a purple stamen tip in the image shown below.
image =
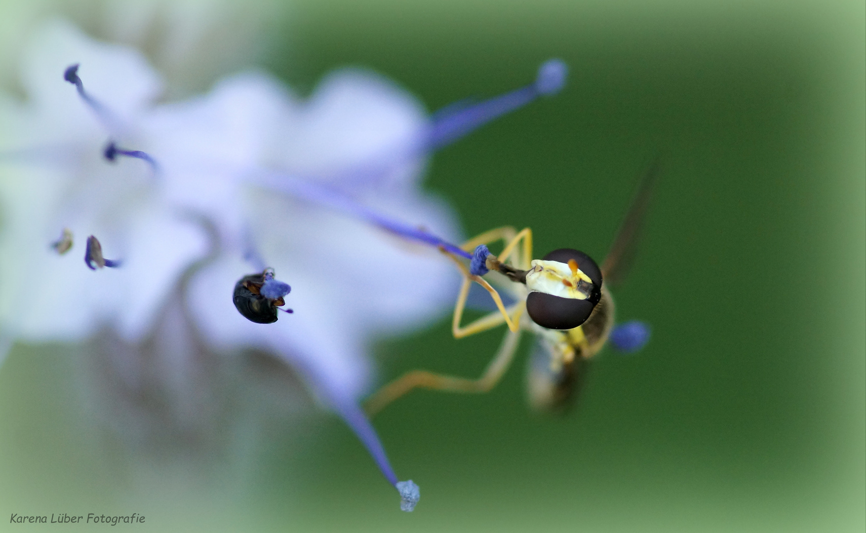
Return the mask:
[[[589,255],[572,248],[559,248],[541,260],[533,260],[530,228],[520,232],[512,227],[492,229],[464,242],[459,247],[464,254],[440,245],[440,251],[454,261],[462,274],[451,322],[454,337],[468,337],[501,324],[507,324],[508,331],[481,377],[469,379],[412,370],[374,393],[365,402],[367,413],[376,414],[391,401],[417,388],[488,392],[514,360],[522,331],[529,331],[537,338],[527,382],[530,404],[541,410],[569,405],[580,388],[591,357],[611,337],[615,306],[608,286],[622,281],[630,269],[658,173],[656,162],[643,175],[611,250],[600,267]],[[489,254],[487,245],[497,241],[504,244],[501,254]],[[465,259],[469,253],[472,255],[467,266]],[[462,325],[463,309],[473,283],[489,292],[497,310]],[[506,307],[494,285],[514,299],[514,304]],[[524,311],[529,319],[521,320]],[[626,324],[623,329],[622,340],[617,344],[626,350],[643,346],[649,338],[649,331],[635,323]]]

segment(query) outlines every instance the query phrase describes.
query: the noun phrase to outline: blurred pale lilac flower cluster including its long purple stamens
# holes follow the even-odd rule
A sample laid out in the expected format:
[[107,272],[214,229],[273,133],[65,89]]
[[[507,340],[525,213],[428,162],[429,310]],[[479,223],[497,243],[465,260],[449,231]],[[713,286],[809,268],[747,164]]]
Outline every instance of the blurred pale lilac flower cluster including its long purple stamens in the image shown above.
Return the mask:
[[[459,236],[448,207],[420,189],[425,159],[555,93],[565,67],[548,62],[527,87],[431,120],[360,70],[331,74],[309,100],[251,72],[157,105],[161,82],[141,55],[64,22],[34,36],[23,66],[29,100],[0,108],[12,133],[0,138],[3,335],[74,341],[109,324],[136,344],[177,301],[209,350],[259,348],[299,370],[411,511],[417,485],[397,483],[358,401],[372,339],[436,317],[455,293],[449,262],[425,246]],[[67,228],[77,246],[58,254]],[[84,235],[98,237],[85,257],[96,272],[77,257]],[[294,315],[275,324],[242,318],[229,294],[265,266],[292,286]],[[21,305],[13,295],[23,279],[28,300],[49,305]]]

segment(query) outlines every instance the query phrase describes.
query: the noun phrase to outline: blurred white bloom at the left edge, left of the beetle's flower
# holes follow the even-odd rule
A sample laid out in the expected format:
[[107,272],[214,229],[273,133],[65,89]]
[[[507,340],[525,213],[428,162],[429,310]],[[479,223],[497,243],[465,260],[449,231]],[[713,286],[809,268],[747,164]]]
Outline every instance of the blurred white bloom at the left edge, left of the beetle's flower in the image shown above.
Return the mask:
[[[0,320],[7,334],[26,341],[80,339],[108,319],[140,336],[179,270],[204,244],[159,197],[145,164],[104,160],[106,128],[62,81],[71,57],[88,61],[95,94],[126,124],[143,118],[161,85],[133,50],[92,42],[64,23],[33,36],[23,58],[28,99],[3,101],[9,164],[0,181],[8,214],[0,236],[0,287],[15,291],[16,280],[38,280],[29,290],[42,303],[0,299]],[[62,228],[74,232],[77,245],[58,256],[48,244]],[[123,255],[127,266],[98,278],[82,270],[89,234],[100,238],[108,257]],[[178,246],[162,246],[164,234]],[[139,260],[150,256],[156,260]]]

